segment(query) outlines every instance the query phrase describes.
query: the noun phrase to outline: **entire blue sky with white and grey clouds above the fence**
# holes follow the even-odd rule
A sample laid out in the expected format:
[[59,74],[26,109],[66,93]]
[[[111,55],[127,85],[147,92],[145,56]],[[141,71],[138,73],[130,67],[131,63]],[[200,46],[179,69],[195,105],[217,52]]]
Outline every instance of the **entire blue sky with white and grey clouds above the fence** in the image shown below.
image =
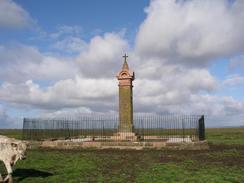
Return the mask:
[[122,55],[134,112],[244,124],[243,0],[0,0],[0,128],[116,113]]

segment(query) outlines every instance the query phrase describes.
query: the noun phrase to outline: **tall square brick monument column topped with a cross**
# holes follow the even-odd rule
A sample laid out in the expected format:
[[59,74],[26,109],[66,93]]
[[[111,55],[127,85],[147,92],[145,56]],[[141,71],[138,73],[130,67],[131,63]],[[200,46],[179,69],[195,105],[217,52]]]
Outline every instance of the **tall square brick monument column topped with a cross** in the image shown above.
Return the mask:
[[127,55],[124,56],[122,70],[117,73],[119,80],[119,132],[133,132],[133,92],[134,72],[129,69]]

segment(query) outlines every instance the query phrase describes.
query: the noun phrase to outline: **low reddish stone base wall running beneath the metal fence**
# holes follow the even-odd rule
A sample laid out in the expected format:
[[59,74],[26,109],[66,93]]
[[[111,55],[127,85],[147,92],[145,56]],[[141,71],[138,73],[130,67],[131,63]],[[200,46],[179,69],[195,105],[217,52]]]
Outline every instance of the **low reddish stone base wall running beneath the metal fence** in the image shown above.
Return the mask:
[[209,145],[207,141],[196,142],[175,142],[168,143],[165,141],[73,141],[56,140],[56,141],[29,141],[28,149],[51,148],[51,149],[81,149],[81,148],[96,148],[96,149],[171,149],[171,150],[208,150]]

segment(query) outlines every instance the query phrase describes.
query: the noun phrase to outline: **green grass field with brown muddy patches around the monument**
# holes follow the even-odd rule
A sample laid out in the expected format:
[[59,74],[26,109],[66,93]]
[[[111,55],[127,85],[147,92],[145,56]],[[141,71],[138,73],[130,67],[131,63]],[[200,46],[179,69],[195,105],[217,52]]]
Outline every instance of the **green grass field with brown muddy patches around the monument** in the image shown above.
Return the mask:
[[[18,130],[0,134],[21,138]],[[206,129],[210,150],[29,150],[15,182],[244,182],[244,128]],[[0,164],[0,171],[4,172]]]

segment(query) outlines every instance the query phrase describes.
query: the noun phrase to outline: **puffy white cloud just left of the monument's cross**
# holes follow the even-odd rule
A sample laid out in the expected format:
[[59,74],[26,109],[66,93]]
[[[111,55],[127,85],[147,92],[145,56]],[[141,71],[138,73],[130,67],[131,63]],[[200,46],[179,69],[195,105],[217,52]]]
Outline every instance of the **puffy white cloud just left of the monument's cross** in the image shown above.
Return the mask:
[[128,49],[127,42],[116,33],[95,36],[85,50],[82,50],[77,62],[81,74],[86,77],[111,77],[120,68],[122,56]]

